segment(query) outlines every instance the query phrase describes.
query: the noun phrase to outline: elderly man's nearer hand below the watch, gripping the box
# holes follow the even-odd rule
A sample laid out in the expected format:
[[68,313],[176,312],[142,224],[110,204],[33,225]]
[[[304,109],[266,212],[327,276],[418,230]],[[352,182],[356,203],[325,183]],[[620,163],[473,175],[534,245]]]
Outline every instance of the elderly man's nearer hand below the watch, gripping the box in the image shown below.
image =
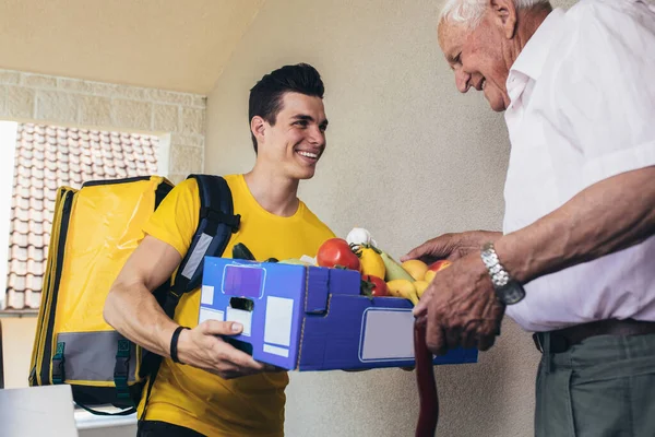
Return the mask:
[[504,305],[496,298],[479,248],[437,273],[414,315],[427,319],[426,343],[437,355],[457,346],[487,351],[493,345]]

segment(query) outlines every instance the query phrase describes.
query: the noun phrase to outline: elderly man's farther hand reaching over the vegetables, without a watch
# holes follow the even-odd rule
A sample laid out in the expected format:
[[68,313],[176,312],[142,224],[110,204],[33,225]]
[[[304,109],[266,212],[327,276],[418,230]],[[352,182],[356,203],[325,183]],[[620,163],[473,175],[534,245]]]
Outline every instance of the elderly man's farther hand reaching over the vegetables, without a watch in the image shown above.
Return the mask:
[[428,265],[440,259],[454,261],[471,252],[479,251],[487,241],[496,241],[502,233],[490,231],[468,231],[458,234],[443,234],[412,249],[401,261],[420,259]]

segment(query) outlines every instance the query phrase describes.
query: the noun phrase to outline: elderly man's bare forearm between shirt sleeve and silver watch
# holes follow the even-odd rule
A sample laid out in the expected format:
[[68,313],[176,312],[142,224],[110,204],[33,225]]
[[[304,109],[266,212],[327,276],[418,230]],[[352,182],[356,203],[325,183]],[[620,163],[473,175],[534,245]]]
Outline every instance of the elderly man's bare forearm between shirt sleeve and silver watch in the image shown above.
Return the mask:
[[655,166],[623,173],[581,191],[561,208],[496,243],[526,283],[655,235]]

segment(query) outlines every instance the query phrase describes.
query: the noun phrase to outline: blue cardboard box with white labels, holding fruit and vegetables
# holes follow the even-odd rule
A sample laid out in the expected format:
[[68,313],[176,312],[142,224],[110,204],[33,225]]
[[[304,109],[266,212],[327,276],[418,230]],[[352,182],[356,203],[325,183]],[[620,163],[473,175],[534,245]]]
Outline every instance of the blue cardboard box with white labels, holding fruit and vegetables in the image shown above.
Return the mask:
[[[288,370],[414,365],[412,303],[360,295],[355,271],[205,257],[199,322],[207,319],[242,323],[226,340]],[[476,362],[475,349],[434,358]]]

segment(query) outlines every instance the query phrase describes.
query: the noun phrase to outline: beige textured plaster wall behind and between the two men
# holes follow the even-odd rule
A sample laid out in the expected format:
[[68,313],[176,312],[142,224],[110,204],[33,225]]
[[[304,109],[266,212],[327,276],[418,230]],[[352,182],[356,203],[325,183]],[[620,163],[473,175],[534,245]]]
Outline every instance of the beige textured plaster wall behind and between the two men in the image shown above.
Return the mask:
[[[556,1],[570,5],[573,1]],[[248,90],[284,63],[322,73],[329,149],[301,197],[342,236],[368,227],[392,255],[445,232],[500,229],[509,141],[483,96],[460,95],[436,45],[432,0],[269,0],[209,96],[205,170],[253,153]],[[439,435],[531,436],[538,353],[505,320],[479,364],[437,368]],[[409,436],[414,374],[293,374],[287,435]]]

